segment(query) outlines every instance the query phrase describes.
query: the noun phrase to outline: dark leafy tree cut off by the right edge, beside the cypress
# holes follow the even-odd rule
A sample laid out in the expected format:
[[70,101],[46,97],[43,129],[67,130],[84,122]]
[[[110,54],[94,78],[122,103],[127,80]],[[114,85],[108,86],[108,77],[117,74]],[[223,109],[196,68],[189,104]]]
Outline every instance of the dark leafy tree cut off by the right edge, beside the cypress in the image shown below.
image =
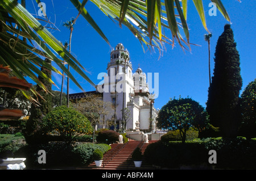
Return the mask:
[[250,82],[241,95],[242,134],[256,137],[256,79]]

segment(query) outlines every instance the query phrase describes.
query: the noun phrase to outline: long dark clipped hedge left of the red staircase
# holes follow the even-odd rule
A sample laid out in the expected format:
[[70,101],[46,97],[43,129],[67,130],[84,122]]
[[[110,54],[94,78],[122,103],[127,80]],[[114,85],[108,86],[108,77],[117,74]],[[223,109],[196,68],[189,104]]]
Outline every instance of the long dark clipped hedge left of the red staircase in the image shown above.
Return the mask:
[[[102,153],[111,147],[106,144],[77,143],[67,145],[65,142],[49,142],[48,144],[27,145],[23,148],[26,153],[25,164],[28,169],[58,169],[61,167],[76,167],[88,165],[93,161],[93,151],[100,149]],[[46,163],[38,163],[38,151],[46,151]]]

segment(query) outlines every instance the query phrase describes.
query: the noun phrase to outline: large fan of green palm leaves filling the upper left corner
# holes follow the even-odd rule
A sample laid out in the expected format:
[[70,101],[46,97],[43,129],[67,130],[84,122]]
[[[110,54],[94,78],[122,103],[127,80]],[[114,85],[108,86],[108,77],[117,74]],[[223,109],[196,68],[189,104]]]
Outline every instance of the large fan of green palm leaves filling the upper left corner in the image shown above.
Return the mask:
[[[23,75],[26,75],[42,87],[44,91],[47,91],[43,83],[39,81],[37,75],[47,79],[48,82],[53,83],[53,81],[42,73],[40,68],[44,66],[49,71],[55,71],[61,74],[54,66],[44,64],[42,58],[49,58],[82,90],[77,80],[63,65],[63,61],[56,56],[57,53],[68,65],[86,79],[86,81],[95,86],[84,73],[85,68],[80,62],[38,20],[24,9],[22,5],[13,0],[5,0],[0,2],[0,7],[2,7],[0,11],[2,27],[0,32],[0,64],[9,65],[16,77],[24,79]],[[13,23],[15,23],[15,26],[13,26]],[[31,91],[34,91],[36,94],[35,90]],[[25,92],[24,94],[28,96]]]

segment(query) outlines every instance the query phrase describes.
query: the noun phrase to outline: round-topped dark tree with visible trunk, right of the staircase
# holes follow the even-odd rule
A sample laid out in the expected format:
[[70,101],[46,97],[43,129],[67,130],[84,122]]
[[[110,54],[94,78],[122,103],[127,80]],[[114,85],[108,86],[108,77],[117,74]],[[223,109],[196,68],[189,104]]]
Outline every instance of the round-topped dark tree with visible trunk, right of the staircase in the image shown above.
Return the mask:
[[170,131],[179,129],[182,142],[189,128],[205,129],[208,123],[204,108],[191,98],[171,99],[158,113],[157,127]]

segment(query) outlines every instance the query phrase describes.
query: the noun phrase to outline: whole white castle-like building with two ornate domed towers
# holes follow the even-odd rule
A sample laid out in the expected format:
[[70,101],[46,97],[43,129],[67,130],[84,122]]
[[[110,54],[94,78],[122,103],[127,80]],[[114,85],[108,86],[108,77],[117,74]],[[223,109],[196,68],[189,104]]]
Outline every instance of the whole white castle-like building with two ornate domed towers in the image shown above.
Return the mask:
[[[127,130],[154,132],[157,111],[154,108],[154,96],[148,89],[147,76],[141,68],[133,73],[129,52],[121,43],[110,53],[110,62],[106,70],[104,83],[98,85],[95,92],[101,93],[104,102],[111,102],[115,111],[104,116],[104,119],[110,120],[116,115],[116,124],[121,128],[122,110],[128,108],[129,118],[125,127]],[[70,94],[69,98],[82,98],[82,94],[84,93]]]

